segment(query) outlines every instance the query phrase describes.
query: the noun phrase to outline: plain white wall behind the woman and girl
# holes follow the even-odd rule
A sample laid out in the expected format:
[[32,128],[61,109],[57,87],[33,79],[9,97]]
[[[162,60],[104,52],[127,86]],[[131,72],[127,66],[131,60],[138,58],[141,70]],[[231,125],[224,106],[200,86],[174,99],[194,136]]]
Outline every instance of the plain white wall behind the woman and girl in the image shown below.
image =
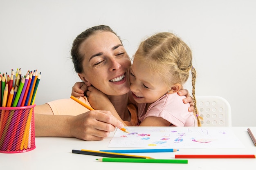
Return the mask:
[[109,25],[130,56],[146,35],[171,31],[193,51],[196,95],[224,97],[232,126],[256,126],[255,9],[254,0],[0,0],[0,72],[38,69],[44,104],[79,81],[70,49],[85,29]]

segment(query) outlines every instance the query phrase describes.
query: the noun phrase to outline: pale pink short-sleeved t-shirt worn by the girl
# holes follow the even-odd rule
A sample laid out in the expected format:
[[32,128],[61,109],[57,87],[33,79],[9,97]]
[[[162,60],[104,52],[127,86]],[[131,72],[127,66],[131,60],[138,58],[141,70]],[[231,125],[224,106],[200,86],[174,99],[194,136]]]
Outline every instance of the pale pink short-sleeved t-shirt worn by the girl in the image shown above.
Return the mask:
[[189,112],[189,104],[184,104],[177,93],[166,94],[150,104],[146,110],[146,104],[138,104],[138,118],[143,121],[146,117],[162,117],[169,121],[171,126],[198,126],[198,121],[193,112]]

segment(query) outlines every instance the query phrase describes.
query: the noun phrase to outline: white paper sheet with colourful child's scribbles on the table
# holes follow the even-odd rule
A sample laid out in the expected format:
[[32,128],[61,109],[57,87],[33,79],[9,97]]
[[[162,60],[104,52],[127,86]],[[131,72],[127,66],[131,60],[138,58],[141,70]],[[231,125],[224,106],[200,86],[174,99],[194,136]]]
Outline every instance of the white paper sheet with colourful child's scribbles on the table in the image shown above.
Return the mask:
[[228,127],[127,127],[119,129],[109,147],[121,148],[245,148]]

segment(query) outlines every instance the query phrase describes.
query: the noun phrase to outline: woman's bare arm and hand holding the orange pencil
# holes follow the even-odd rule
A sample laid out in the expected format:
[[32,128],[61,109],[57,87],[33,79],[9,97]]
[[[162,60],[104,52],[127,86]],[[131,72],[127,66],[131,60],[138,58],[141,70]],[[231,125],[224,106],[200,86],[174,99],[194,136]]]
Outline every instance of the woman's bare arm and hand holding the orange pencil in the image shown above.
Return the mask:
[[124,125],[109,111],[92,110],[77,116],[51,115],[49,106],[35,107],[36,137],[76,137],[86,141],[102,140]]

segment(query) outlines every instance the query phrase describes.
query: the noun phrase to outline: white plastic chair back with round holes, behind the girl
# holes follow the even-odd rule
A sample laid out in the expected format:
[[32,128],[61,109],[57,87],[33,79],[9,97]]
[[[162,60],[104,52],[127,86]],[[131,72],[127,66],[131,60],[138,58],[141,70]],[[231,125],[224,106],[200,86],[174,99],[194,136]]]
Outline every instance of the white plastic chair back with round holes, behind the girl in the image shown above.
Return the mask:
[[196,96],[198,115],[202,126],[231,126],[231,107],[226,99],[219,96]]

